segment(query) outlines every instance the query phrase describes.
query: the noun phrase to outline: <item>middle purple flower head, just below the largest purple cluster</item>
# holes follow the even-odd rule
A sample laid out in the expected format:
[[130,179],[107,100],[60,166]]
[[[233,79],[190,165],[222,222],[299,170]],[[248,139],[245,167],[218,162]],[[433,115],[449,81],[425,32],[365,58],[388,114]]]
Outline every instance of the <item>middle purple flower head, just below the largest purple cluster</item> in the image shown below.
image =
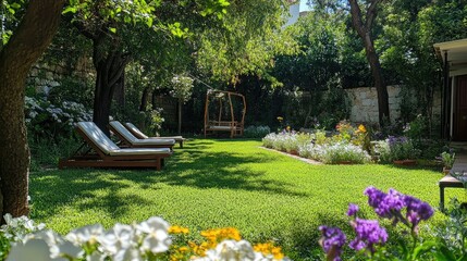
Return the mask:
[[388,233],[378,221],[357,217],[352,224],[357,236],[348,246],[356,251],[365,249],[374,253],[376,245],[382,246],[388,241]]

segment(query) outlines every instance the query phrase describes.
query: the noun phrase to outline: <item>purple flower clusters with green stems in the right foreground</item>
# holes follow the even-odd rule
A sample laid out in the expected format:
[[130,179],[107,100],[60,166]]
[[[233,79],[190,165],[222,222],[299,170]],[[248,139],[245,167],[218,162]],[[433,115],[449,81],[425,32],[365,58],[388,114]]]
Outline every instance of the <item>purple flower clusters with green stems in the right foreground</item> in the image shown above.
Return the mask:
[[[349,241],[348,247],[371,260],[420,260],[423,254],[433,253],[434,257],[450,260],[445,253],[437,253],[435,248],[443,247],[443,244],[422,241],[419,237],[419,224],[433,215],[433,209],[421,200],[403,195],[395,189],[390,189],[388,194],[374,188],[365,189],[368,196],[368,204],[374,210],[380,219],[392,221],[393,226],[402,224],[407,233],[407,237],[397,244],[388,244],[389,236],[386,229],[379,224],[378,220],[364,220],[358,217],[359,208],[351,203],[347,215],[352,217],[351,226],[354,228],[356,237]],[[327,254],[328,260],[341,260],[343,248],[347,241],[345,234],[337,227],[320,226],[320,244]],[[410,244],[408,244],[410,243]],[[395,249],[392,249],[395,248]],[[446,253],[448,254],[448,253]]]

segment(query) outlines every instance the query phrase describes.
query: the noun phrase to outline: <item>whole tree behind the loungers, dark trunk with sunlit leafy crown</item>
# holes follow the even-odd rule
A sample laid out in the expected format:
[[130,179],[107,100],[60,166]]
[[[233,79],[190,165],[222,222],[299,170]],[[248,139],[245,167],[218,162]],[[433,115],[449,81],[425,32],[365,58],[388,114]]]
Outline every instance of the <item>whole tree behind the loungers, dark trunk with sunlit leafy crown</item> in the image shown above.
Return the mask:
[[[126,65],[135,55],[155,54],[152,50],[156,46],[146,44],[156,37],[183,37],[188,32],[184,26],[187,24],[185,18],[206,22],[211,14],[221,17],[229,5],[225,0],[202,3],[156,0],[84,2],[82,5],[71,5],[65,12],[74,13],[73,24],[93,41],[93,62],[97,74],[93,121],[107,134],[113,94],[124,85]],[[144,39],[143,35],[149,39]]]

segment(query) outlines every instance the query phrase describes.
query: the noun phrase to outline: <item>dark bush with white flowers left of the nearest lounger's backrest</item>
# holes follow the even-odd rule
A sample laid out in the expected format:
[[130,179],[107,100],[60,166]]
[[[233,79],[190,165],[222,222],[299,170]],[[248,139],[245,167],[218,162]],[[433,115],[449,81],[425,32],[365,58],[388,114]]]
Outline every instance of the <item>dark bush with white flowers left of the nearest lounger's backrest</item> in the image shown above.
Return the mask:
[[75,123],[91,121],[93,113],[77,102],[63,101],[60,105],[25,97],[25,119],[34,137],[69,136]]

